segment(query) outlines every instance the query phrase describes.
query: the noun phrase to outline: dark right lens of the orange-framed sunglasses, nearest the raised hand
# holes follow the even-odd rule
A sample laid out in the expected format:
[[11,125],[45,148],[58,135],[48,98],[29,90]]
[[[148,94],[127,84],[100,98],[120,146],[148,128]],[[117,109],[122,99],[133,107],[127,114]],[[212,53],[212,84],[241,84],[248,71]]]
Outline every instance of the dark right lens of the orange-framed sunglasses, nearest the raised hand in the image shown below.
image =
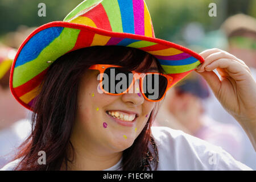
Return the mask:
[[158,74],[147,74],[143,78],[143,92],[150,100],[160,100],[167,88],[166,77]]

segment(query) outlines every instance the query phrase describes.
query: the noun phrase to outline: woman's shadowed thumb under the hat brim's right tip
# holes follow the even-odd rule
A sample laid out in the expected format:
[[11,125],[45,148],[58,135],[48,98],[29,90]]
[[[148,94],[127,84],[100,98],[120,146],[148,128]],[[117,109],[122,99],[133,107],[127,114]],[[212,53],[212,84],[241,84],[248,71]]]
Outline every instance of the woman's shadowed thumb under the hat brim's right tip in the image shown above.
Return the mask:
[[[197,72],[197,70],[195,70]],[[221,81],[220,78],[213,71],[197,72],[201,75],[205,81],[207,81],[210,89],[212,89],[214,95],[217,97],[217,93],[220,90]]]

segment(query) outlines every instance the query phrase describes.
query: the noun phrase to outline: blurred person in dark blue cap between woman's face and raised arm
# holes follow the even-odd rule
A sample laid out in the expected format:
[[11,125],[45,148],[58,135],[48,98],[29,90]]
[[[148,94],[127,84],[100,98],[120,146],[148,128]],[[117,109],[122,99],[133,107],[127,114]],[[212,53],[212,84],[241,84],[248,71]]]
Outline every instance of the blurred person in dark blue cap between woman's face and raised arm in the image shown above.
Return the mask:
[[174,126],[175,129],[222,147],[235,159],[241,160],[243,152],[241,132],[237,127],[214,121],[205,114],[203,100],[208,97],[207,82],[200,75],[192,72],[174,86],[171,94],[164,101],[166,114],[172,117],[168,118],[165,124],[159,123],[162,119],[158,118],[156,125]]

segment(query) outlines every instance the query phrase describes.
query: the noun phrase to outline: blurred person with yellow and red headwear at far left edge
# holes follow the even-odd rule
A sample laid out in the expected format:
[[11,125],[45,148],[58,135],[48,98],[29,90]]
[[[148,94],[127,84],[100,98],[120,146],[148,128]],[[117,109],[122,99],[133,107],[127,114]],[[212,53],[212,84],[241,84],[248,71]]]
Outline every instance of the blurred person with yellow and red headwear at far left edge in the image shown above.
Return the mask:
[[[27,137],[27,111],[16,102],[9,88],[16,49],[0,45],[0,168],[13,157],[10,152]],[[9,156],[10,154],[10,156]]]

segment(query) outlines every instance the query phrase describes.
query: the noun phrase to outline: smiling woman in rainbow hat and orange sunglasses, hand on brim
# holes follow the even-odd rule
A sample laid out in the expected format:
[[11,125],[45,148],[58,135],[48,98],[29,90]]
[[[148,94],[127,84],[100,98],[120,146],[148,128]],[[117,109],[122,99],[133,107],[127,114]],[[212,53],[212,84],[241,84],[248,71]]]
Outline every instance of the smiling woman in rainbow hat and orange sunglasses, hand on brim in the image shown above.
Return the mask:
[[203,140],[151,127],[167,89],[200,63],[197,72],[255,146],[256,85],[243,61],[155,39],[144,1],[82,2],[64,22],[32,32],[15,57],[11,90],[34,111],[33,127],[3,169],[250,169]]

